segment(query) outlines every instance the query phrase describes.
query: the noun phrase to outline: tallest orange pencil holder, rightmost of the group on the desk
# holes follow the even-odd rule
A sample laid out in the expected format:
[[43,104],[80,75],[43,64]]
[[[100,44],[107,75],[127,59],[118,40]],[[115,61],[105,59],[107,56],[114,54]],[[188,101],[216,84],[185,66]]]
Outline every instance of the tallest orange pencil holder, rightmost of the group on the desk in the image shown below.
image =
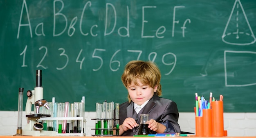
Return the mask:
[[224,136],[223,101],[212,101],[212,136]]

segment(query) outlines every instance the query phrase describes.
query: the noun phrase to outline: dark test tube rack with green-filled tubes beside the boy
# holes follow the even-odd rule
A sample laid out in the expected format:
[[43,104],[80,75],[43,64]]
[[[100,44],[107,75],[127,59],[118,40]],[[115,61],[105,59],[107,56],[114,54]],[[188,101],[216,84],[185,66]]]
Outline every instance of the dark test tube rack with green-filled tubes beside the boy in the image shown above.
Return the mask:
[[[114,122],[115,120],[119,120],[119,119],[114,119],[114,118],[111,118],[111,119],[108,119],[108,118],[104,118],[104,119],[99,119],[99,118],[92,118],[92,120],[98,120],[98,121],[103,121],[103,125],[104,125],[104,122],[108,122],[108,121],[111,121]],[[95,131],[100,131],[100,134],[95,134],[95,135],[92,135],[92,136],[119,136],[119,135],[116,135],[116,134],[110,134],[109,132],[113,130],[119,130],[119,128],[95,128],[95,129],[92,129],[92,130],[95,130]],[[107,134],[104,133],[104,131],[107,131]]]

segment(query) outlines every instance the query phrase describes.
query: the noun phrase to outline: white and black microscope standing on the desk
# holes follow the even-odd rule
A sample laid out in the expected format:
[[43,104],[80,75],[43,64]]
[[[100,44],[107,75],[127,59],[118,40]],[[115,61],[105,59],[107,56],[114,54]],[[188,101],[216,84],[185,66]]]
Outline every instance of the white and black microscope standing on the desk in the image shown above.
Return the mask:
[[[38,122],[41,117],[50,117],[49,114],[40,114],[40,107],[49,109],[47,101],[43,99],[42,70],[36,70],[36,87],[27,91],[26,118],[27,125],[22,129],[22,136],[56,136],[56,131],[45,131],[43,125]],[[32,104],[35,110],[31,112]],[[33,114],[34,113],[34,114]]]

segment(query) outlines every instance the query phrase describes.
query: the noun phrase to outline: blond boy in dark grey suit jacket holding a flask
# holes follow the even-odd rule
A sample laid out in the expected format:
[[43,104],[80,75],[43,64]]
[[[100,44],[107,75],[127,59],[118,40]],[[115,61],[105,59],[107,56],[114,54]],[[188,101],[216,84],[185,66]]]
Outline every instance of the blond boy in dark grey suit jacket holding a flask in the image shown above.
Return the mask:
[[[175,102],[160,98],[161,73],[151,61],[130,61],[121,80],[128,90],[128,100],[120,105],[119,134],[138,134],[140,114],[149,114],[148,128],[156,133],[180,133],[179,112]],[[140,109],[138,111],[137,107]]]

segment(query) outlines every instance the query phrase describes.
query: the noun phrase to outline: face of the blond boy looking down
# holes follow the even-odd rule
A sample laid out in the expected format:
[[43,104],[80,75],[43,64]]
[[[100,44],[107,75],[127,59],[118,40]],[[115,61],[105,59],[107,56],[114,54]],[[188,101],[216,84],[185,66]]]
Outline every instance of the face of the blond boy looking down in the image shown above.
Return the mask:
[[142,105],[145,101],[151,99],[154,95],[154,90],[157,90],[157,86],[153,89],[149,85],[142,84],[139,79],[137,79],[138,85],[133,82],[128,85],[127,90],[130,95],[131,100],[137,105]]

